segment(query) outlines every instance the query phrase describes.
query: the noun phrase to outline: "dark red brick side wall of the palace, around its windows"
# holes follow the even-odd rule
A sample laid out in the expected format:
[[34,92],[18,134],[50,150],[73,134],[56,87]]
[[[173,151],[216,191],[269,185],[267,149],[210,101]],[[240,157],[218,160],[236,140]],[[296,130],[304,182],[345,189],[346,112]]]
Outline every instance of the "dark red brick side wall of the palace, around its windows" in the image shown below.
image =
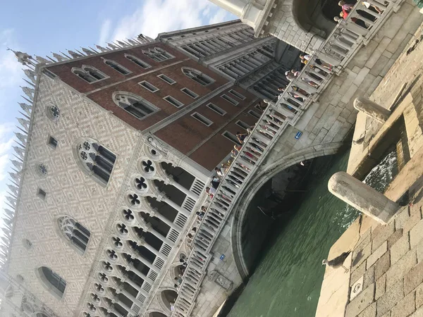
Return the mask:
[[[162,49],[168,51],[168,53],[175,56],[175,58],[157,63],[151,58],[145,56],[145,54],[142,54],[142,50],[148,49],[149,47],[161,47]],[[143,69],[140,66],[137,66],[135,63],[125,58],[125,53],[140,58],[152,67]],[[128,75],[118,73],[118,71],[107,66],[102,57],[116,61],[132,73]],[[82,78],[71,72],[73,67],[81,67],[82,65],[94,66],[102,73],[109,76],[109,78],[92,84],[85,82],[85,80],[82,80]],[[209,77],[212,77],[216,81],[212,83],[212,85],[204,87],[185,76],[181,71],[183,66],[200,70],[202,73],[209,75]],[[70,85],[79,92],[86,94],[88,98],[92,99],[92,101],[96,102],[106,110],[112,111],[115,116],[121,118],[125,121],[125,123],[128,123],[137,130],[145,130],[155,123],[159,123],[161,120],[172,116],[200,97],[212,94],[214,90],[218,89],[222,85],[226,85],[228,82],[226,78],[221,77],[212,70],[201,66],[196,61],[188,59],[185,55],[180,54],[175,49],[172,49],[170,46],[166,46],[162,43],[146,44],[145,46],[133,49],[112,51],[109,54],[103,54],[101,56],[91,56],[79,61],[71,61],[69,63],[51,66],[49,67],[49,70],[58,75],[63,82],[66,82],[66,84]],[[164,82],[157,77],[157,75],[160,74],[171,77],[176,81],[176,84],[168,85],[167,82]],[[144,80],[159,88],[159,91],[154,93],[149,92],[149,90],[138,84],[138,82]],[[197,99],[192,99],[187,94],[180,91],[183,87],[187,87],[192,90],[192,92],[198,94],[199,97]],[[256,100],[256,97],[240,87],[231,87],[231,89],[235,89],[240,92],[240,94],[243,94],[246,97],[245,100],[238,99],[228,93],[228,90],[230,89],[226,89],[226,92],[224,93],[239,102],[237,106],[233,106],[233,104],[230,104],[228,101],[222,99],[221,94],[223,93],[219,93],[216,97],[212,97],[211,99],[204,101],[204,103],[195,108],[195,110],[190,111],[190,113],[186,114],[182,118],[169,123],[166,127],[157,131],[155,134],[157,137],[168,143],[171,147],[178,149],[178,151],[183,154],[190,154],[192,152],[190,157],[194,161],[200,163],[200,165],[205,168],[212,170],[233,147],[233,143],[221,136],[221,133],[228,130],[235,134],[238,130],[242,130],[242,128],[238,127],[238,125],[235,125],[236,120],[243,120],[245,123],[249,124],[255,123],[255,118],[247,115],[245,108],[252,104],[252,102]],[[154,104],[154,106],[160,110],[156,113],[152,113],[152,115],[147,116],[142,120],[135,118],[135,116],[126,112],[123,108],[116,106],[114,103],[112,94],[118,91],[137,94]],[[178,101],[182,102],[184,106],[176,108],[163,99],[166,96],[178,99]],[[226,115],[221,116],[219,113],[207,108],[206,105],[210,102],[226,111]],[[240,111],[243,111],[243,113],[240,113]],[[190,115],[194,112],[198,112],[209,118],[209,120],[213,121],[213,124],[210,127],[207,127],[200,121],[192,118]],[[237,118],[235,118],[237,113],[240,114]],[[214,136],[209,139],[211,135]],[[206,139],[207,142],[202,144],[202,142]],[[198,149],[196,149],[196,147],[198,147]]]

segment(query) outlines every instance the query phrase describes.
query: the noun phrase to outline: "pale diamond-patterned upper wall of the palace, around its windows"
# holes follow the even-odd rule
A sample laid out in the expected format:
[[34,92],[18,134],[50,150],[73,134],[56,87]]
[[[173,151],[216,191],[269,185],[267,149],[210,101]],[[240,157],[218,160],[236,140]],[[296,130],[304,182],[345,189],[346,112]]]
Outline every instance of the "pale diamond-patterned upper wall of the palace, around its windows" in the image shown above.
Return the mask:
[[[40,79],[35,104],[8,274],[14,278],[22,275],[23,285],[59,316],[72,316],[139,136],[135,129],[57,80]],[[48,118],[50,104],[59,107],[58,120]],[[56,149],[47,144],[49,135],[58,140]],[[82,172],[73,157],[73,149],[83,137],[96,139],[116,154],[107,187]],[[37,173],[39,163],[47,167],[44,178]],[[45,200],[37,197],[37,188],[47,193]],[[78,254],[59,234],[55,218],[59,215],[72,216],[90,230],[84,255]],[[31,249],[25,248],[24,239],[30,240]],[[48,266],[66,280],[62,299],[54,297],[37,278],[40,266]]]

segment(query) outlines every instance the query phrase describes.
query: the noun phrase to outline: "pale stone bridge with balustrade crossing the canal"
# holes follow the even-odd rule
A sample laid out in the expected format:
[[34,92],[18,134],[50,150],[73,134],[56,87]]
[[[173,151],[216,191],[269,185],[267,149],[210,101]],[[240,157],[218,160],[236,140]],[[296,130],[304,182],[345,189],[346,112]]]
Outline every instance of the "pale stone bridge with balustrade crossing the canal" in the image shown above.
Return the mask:
[[[345,144],[355,123],[354,99],[374,92],[423,21],[410,0],[375,4],[383,13],[367,10],[374,16],[367,20],[358,15],[358,3],[262,113],[197,230],[171,316],[212,316],[247,278],[243,220],[267,180],[300,161],[335,154]],[[322,67],[321,61],[333,68]],[[271,118],[275,120],[269,125],[265,120]]]

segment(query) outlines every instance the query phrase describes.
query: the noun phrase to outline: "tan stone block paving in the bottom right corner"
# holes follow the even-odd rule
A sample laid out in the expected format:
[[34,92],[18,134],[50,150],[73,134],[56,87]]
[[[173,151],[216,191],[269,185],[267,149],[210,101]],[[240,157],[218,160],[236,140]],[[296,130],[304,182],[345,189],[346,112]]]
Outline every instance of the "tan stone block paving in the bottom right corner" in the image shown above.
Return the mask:
[[[345,317],[423,316],[423,259],[417,256],[423,249],[420,234],[423,201],[416,203],[404,207],[388,226],[378,225],[368,230],[366,235],[370,239],[366,236],[362,244],[376,245],[370,254],[364,255],[363,250],[370,249],[367,246],[355,248],[350,285],[361,276],[365,281],[366,275],[373,271],[374,283],[364,282],[363,291],[348,303]],[[403,229],[405,223],[407,230]],[[354,266],[355,263],[360,265]]]

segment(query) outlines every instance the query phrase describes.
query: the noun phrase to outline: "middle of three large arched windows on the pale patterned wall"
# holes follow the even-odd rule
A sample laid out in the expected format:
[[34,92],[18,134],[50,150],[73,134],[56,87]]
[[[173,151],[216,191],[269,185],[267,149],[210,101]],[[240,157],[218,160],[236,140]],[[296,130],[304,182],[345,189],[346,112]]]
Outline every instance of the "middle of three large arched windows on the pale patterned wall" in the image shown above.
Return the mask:
[[57,225],[61,236],[80,254],[84,254],[90,240],[90,231],[70,216],[57,218]]

